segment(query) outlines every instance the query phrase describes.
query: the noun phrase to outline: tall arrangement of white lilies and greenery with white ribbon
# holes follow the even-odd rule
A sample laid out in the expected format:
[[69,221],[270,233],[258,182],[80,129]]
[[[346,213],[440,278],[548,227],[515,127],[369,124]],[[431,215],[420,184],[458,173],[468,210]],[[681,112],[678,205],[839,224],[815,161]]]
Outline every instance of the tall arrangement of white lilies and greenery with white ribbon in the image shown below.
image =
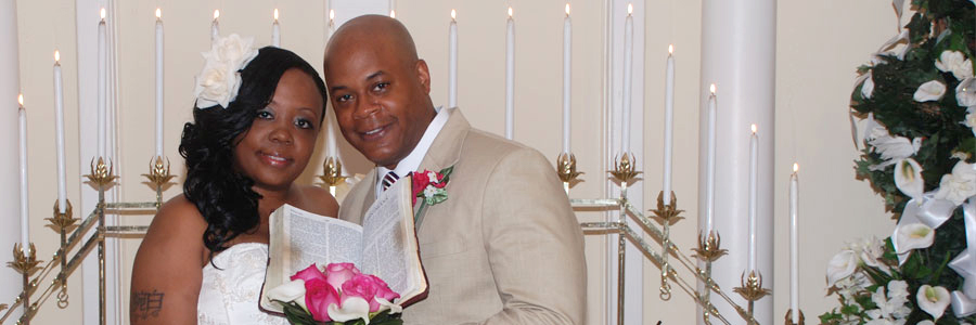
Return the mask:
[[824,324],[976,323],[974,2],[909,5],[902,32],[858,68],[850,105],[857,176],[898,222],[830,261],[840,307]]

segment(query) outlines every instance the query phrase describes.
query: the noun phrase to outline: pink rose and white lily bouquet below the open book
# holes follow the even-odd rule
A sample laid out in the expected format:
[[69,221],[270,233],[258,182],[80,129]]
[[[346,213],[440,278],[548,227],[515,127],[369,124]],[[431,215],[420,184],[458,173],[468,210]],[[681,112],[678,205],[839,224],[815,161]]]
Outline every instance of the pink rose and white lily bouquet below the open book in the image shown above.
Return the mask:
[[291,280],[268,291],[268,299],[282,304],[291,324],[403,324],[394,315],[402,311],[393,303],[400,295],[352,263],[331,263],[324,272],[311,264]]

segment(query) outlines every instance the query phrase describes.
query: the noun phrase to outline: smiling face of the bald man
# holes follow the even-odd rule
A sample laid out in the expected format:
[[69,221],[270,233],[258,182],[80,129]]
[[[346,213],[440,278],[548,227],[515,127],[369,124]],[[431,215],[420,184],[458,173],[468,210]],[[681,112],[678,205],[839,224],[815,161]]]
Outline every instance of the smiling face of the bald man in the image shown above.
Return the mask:
[[369,38],[331,48],[325,82],[343,135],[374,164],[395,168],[434,119],[426,63],[404,62],[391,42]]

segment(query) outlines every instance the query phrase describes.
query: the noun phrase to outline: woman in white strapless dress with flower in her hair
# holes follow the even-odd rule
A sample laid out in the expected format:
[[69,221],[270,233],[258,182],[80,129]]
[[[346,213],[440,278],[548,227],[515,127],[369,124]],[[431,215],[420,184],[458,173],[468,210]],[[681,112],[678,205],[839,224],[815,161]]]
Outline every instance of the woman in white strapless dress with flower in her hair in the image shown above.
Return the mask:
[[283,204],[336,216],[329,192],[295,184],[325,114],[308,62],[236,35],[204,53],[183,127],[183,195],[153,219],[132,268],[131,324],[286,324],[258,310],[268,217]]

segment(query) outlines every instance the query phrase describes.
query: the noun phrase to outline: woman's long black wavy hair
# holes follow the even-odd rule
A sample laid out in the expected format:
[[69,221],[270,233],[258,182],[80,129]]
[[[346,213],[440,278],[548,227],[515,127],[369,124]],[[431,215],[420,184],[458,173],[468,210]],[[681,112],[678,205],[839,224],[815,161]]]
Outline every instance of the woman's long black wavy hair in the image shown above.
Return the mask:
[[[322,117],[328,94],[325,82],[305,60],[288,50],[267,47],[241,70],[241,88],[228,107],[194,107],[193,122],[183,126],[180,155],[187,160],[183,195],[207,222],[204,245],[210,257],[227,249],[234,237],[254,231],[260,222],[254,180],[234,168],[239,135],[251,129],[257,112],[271,103],[281,76],[297,68],[311,77],[322,95]],[[320,120],[321,122],[321,120]]]

